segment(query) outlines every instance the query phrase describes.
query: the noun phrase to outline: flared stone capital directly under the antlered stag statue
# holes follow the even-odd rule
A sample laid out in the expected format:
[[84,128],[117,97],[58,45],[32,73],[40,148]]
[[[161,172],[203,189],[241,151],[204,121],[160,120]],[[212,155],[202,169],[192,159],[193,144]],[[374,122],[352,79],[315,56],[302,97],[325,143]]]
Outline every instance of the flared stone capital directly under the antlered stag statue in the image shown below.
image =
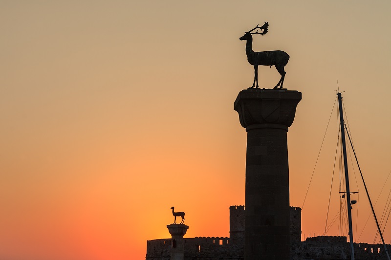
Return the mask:
[[241,126],[254,124],[292,125],[302,93],[287,89],[245,89],[239,92],[234,109]]

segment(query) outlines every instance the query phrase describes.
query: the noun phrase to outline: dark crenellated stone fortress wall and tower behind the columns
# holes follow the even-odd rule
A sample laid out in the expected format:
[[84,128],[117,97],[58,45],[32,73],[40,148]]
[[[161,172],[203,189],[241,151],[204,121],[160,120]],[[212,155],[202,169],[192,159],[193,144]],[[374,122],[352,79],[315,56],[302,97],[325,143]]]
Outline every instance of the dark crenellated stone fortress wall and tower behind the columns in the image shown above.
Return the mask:
[[[185,260],[243,260],[244,206],[230,208],[230,237],[184,239]],[[347,260],[347,237],[319,236],[301,241],[301,208],[290,207],[291,260]],[[147,241],[146,260],[170,260],[171,239]],[[391,245],[387,245],[391,252]],[[356,260],[387,260],[381,244],[354,243]]]

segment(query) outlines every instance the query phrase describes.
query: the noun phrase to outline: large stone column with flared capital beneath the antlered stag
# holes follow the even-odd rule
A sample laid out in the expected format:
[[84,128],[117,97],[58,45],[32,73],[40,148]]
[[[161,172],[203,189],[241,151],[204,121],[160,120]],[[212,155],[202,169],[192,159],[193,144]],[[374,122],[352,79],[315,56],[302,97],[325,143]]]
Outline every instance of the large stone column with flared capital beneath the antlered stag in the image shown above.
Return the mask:
[[247,131],[244,260],[289,260],[289,167],[286,133],[302,93],[239,92],[234,109]]

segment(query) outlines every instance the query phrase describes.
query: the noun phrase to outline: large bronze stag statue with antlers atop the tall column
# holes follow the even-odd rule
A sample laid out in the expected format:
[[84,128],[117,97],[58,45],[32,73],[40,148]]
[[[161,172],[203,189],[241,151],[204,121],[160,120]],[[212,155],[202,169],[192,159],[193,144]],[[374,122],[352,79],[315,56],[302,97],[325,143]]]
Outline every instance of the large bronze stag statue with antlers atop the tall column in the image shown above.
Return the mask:
[[[280,86],[282,88],[282,84],[284,82],[285,78],[285,71],[284,66],[288,63],[289,55],[284,51],[261,51],[261,52],[255,52],[253,51],[252,44],[253,44],[253,37],[252,34],[260,34],[265,35],[268,31],[267,27],[269,26],[269,23],[265,21],[265,23],[259,27],[259,24],[257,27],[252,29],[251,31],[245,32],[245,34],[239,38],[239,40],[246,40],[246,55],[248,62],[254,66],[254,83],[251,88],[254,88],[255,82],[257,82],[257,88],[259,88],[258,85],[258,65],[263,66],[276,66],[277,71],[281,75],[281,80],[278,81],[278,84],[274,87],[275,89]],[[261,29],[263,30],[261,33],[258,32],[258,30],[255,33],[252,33],[255,29]]]

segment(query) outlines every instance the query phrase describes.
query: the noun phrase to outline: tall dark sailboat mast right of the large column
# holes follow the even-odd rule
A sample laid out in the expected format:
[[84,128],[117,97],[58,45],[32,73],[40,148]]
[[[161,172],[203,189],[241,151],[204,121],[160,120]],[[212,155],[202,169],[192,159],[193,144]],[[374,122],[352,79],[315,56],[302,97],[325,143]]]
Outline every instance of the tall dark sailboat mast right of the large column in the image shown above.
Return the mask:
[[348,158],[346,155],[344,113],[342,111],[342,94],[337,93],[337,96],[338,96],[338,105],[339,105],[339,119],[341,124],[341,143],[342,143],[342,150],[344,154],[346,202],[348,207],[348,220],[349,220],[348,222],[349,222],[349,240],[350,240],[350,260],[354,260],[353,228],[351,223],[351,203],[350,203],[350,187],[349,187],[349,175],[348,175]]

